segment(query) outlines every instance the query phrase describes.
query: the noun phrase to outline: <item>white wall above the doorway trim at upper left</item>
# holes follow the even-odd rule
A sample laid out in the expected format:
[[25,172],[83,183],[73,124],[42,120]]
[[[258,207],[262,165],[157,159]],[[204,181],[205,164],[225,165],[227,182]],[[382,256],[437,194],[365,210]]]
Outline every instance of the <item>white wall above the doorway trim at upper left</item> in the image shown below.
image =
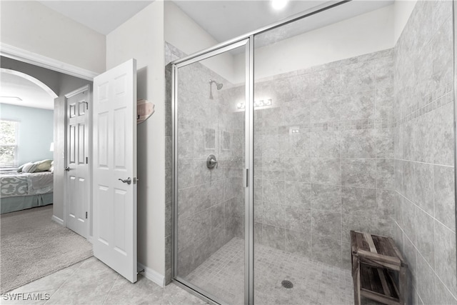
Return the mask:
[[38,1],[1,1],[1,43],[89,71],[105,71],[105,36]]

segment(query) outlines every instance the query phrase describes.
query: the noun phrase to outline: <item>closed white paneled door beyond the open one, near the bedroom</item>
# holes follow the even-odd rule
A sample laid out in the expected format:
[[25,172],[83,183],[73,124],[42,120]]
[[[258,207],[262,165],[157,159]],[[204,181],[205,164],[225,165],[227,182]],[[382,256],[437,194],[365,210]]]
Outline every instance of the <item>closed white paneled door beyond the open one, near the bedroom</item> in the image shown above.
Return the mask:
[[66,94],[66,226],[87,238],[89,85]]

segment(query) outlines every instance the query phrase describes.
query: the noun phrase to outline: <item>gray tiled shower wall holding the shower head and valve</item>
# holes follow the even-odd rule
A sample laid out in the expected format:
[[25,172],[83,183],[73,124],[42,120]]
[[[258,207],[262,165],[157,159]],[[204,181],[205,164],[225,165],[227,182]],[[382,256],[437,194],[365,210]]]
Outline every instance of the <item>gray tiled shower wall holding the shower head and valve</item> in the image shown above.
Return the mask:
[[[184,56],[166,44],[166,62]],[[171,71],[167,71],[171,80]],[[223,84],[219,91],[209,79]],[[170,84],[168,84],[170,85]],[[244,114],[231,102],[242,87],[196,63],[179,69],[178,98],[178,275],[183,277],[230,241],[242,236]],[[170,91],[171,92],[171,91]],[[169,101],[171,103],[171,96]],[[171,111],[171,104],[168,104]],[[167,125],[171,126],[171,113]],[[167,137],[166,268],[171,267],[171,134]],[[206,157],[214,154],[216,168]],[[168,273],[168,272],[167,272]],[[168,276],[167,276],[168,277]]]

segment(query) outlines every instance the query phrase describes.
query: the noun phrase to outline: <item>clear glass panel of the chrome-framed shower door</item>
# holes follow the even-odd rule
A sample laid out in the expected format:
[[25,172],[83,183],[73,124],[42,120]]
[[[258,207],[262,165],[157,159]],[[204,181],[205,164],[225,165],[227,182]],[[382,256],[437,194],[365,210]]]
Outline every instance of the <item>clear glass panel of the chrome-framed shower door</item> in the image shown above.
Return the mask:
[[174,70],[174,278],[243,304],[246,41]]

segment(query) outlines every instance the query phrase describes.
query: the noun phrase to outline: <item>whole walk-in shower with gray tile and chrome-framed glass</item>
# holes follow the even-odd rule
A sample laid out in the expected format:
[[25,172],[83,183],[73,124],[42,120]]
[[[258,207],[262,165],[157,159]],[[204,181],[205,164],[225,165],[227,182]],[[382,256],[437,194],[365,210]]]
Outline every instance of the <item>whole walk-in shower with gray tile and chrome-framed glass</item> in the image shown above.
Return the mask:
[[419,1],[385,46],[391,11],[368,2],[174,54],[177,283],[220,304],[353,304],[356,230],[394,237],[411,297],[457,295],[451,4]]

